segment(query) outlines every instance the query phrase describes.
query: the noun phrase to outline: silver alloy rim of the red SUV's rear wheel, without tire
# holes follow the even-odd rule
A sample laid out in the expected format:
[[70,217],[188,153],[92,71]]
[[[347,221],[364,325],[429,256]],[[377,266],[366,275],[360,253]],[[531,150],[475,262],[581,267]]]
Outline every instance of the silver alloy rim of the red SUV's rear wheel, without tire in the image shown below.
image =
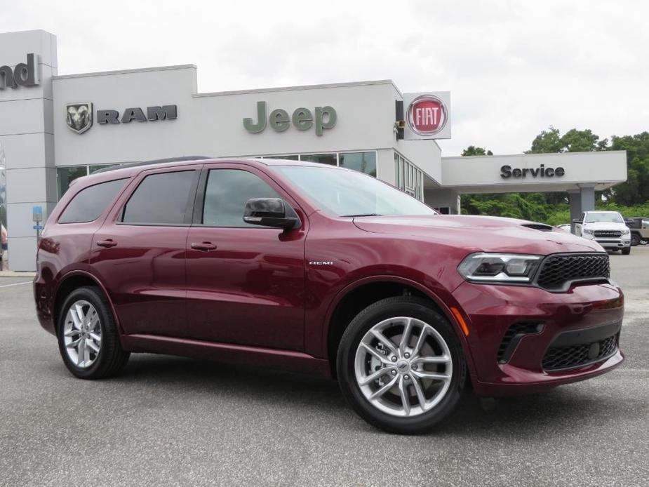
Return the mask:
[[90,302],[72,304],[63,323],[63,345],[69,359],[79,368],[88,368],[99,356],[102,328],[97,309]]

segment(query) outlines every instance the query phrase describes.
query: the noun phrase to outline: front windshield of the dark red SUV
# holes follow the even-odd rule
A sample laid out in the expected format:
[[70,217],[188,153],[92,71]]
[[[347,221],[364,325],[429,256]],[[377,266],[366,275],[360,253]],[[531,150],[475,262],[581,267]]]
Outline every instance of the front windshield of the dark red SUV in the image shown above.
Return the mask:
[[335,216],[436,215],[421,201],[356,171],[278,166],[316,207]]

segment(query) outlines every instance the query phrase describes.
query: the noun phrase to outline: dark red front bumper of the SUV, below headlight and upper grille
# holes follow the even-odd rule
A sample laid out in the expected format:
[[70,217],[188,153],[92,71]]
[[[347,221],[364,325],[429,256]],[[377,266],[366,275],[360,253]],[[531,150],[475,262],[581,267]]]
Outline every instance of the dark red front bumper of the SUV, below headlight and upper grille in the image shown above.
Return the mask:
[[537,392],[605,373],[624,360],[617,347],[624,299],[612,284],[549,293],[466,282],[453,296],[469,318],[477,394]]

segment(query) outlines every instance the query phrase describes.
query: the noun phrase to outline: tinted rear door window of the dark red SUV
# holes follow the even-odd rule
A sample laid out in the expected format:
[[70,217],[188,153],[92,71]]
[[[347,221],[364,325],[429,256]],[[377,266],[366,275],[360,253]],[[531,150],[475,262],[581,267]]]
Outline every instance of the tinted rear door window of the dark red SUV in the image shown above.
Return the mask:
[[195,179],[193,170],[148,175],[128,199],[121,221],[142,225],[185,223],[190,196],[194,203]]

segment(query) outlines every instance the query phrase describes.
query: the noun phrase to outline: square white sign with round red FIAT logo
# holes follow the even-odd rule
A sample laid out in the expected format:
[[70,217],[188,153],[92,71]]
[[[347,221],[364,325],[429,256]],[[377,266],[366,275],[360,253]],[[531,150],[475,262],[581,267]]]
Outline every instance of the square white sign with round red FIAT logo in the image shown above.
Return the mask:
[[450,91],[403,95],[405,140],[450,139]]

